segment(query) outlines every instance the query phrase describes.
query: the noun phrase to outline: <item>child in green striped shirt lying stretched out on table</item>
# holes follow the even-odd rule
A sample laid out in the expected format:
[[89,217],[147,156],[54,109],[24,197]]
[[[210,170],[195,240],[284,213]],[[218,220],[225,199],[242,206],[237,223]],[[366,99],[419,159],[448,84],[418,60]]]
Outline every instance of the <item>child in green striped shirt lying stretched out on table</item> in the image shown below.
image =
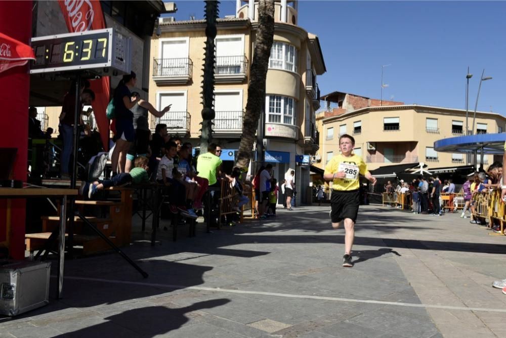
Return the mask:
[[124,186],[130,183],[140,184],[149,182],[148,177],[148,158],[139,156],[135,159],[135,167],[132,168],[130,173],[120,173],[113,176],[110,180],[97,180],[92,183],[83,181],[79,188],[79,194],[87,194],[88,198],[92,198],[98,190],[104,190],[109,187]]

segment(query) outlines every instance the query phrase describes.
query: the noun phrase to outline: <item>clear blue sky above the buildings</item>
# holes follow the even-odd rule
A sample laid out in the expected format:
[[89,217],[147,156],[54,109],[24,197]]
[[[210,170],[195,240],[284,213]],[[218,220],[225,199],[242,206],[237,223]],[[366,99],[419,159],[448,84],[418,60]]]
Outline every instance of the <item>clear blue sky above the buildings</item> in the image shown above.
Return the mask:
[[[177,20],[203,18],[203,1],[176,1]],[[222,1],[220,17],[235,14]],[[300,1],[299,25],[318,35],[327,72],[321,94],[333,91],[406,104],[474,110],[482,70],[479,111],[506,115],[506,2]]]

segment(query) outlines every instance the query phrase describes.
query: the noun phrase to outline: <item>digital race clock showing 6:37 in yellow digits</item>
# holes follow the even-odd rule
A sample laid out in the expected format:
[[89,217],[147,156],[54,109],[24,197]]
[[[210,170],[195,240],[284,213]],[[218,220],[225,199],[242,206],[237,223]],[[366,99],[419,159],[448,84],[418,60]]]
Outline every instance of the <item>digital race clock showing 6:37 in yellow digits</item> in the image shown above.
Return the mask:
[[119,75],[132,70],[132,39],[112,28],[33,37],[31,46],[31,74],[91,70]]

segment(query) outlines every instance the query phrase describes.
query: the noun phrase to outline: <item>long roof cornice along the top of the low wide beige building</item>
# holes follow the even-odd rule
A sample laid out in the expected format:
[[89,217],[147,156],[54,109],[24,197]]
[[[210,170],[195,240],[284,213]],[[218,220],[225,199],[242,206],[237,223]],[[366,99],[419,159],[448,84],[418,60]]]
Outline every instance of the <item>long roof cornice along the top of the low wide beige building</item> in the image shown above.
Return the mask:
[[[342,121],[349,117],[357,116],[366,114],[372,111],[391,111],[391,110],[409,110],[412,109],[416,111],[417,113],[432,113],[432,114],[439,114],[439,115],[456,115],[456,116],[466,116],[466,110],[464,109],[455,109],[455,108],[444,108],[444,107],[434,107],[434,106],[419,106],[419,105],[400,105],[400,106],[383,106],[383,107],[365,107],[361,109],[357,109],[354,111],[350,111],[338,116],[330,116],[327,118],[323,118],[322,122],[330,123],[334,121]],[[469,114],[474,114],[473,111],[469,111]],[[481,115],[482,117],[488,117],[488,118],[502,118],[506,120],[506,117],[502,116],[499,113],[493,113],[493,112],[486,112],[486,111],[477,111],[476,114]]]

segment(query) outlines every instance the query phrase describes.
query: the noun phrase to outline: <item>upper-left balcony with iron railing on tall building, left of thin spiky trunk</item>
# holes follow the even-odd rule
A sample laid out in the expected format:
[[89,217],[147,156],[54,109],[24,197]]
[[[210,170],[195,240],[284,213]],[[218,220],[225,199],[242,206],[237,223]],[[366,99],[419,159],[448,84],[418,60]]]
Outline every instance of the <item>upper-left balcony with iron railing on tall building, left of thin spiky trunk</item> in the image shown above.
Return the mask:
[[153,80],[157,85],[185,85],[191,80],[193,61],[190,58],[154,59]]

